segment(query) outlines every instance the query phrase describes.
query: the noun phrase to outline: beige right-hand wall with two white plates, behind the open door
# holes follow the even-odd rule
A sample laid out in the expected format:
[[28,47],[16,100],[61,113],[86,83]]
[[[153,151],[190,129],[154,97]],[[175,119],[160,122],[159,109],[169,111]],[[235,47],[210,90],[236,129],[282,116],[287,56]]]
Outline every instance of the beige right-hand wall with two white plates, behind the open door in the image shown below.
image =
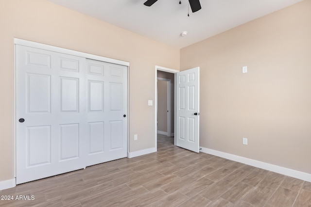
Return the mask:
[[183,48],[180,60],[200,66],[202,147],[311,173],[311,0]]

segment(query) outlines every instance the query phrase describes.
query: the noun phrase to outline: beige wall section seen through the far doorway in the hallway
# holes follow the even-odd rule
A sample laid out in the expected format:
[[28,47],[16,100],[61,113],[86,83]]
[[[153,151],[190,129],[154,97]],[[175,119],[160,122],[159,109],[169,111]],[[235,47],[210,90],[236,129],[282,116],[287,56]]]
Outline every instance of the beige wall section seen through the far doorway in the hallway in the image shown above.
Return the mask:
[[167,132],[167,87],[168,81],[157,81],[157,130]]

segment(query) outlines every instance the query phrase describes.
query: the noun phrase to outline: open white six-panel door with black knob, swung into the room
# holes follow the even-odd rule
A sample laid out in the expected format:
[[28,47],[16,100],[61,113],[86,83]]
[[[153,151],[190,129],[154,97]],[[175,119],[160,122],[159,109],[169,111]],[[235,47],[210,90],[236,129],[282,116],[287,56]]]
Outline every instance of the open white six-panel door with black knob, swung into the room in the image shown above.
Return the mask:
[[200,68],[176,73],[176,145],[199,152]]

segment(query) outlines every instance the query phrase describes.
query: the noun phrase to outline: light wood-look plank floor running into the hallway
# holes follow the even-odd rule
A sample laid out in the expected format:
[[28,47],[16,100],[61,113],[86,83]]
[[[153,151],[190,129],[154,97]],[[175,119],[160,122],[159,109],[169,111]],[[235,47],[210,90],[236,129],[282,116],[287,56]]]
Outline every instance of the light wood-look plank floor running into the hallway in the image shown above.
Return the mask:
[[311,207],[311,183],[194,153],[158,135],[157,152],[17,185],[1,207]]

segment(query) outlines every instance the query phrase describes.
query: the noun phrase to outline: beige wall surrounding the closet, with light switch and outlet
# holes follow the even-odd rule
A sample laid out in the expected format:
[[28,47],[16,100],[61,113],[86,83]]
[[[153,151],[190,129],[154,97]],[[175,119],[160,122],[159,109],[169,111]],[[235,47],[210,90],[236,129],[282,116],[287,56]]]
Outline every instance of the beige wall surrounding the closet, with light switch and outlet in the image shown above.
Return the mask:
[[47,0],[1,0],[0,181],[14,177],[14,37],[130,62],[130,152],[155,147],[155,65],[178,70],[179,49]]

